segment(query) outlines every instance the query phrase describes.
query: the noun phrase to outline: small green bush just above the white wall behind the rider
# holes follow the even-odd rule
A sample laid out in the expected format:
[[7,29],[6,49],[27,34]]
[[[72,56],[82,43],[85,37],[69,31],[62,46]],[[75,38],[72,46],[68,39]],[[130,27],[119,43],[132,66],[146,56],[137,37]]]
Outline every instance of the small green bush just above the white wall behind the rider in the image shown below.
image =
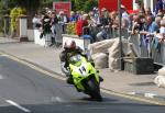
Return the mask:
[[66,34],[76,34],[76,23],[68,23],[66,26]]

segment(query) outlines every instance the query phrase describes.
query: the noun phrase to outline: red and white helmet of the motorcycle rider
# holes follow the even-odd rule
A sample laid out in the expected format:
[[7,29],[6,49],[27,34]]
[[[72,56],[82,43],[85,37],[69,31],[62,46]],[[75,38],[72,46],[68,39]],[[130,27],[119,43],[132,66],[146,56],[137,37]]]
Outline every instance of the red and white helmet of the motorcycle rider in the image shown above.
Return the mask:
[[73,39],[68,39],[64,44],[65,49],[76,49],[76,42]]

